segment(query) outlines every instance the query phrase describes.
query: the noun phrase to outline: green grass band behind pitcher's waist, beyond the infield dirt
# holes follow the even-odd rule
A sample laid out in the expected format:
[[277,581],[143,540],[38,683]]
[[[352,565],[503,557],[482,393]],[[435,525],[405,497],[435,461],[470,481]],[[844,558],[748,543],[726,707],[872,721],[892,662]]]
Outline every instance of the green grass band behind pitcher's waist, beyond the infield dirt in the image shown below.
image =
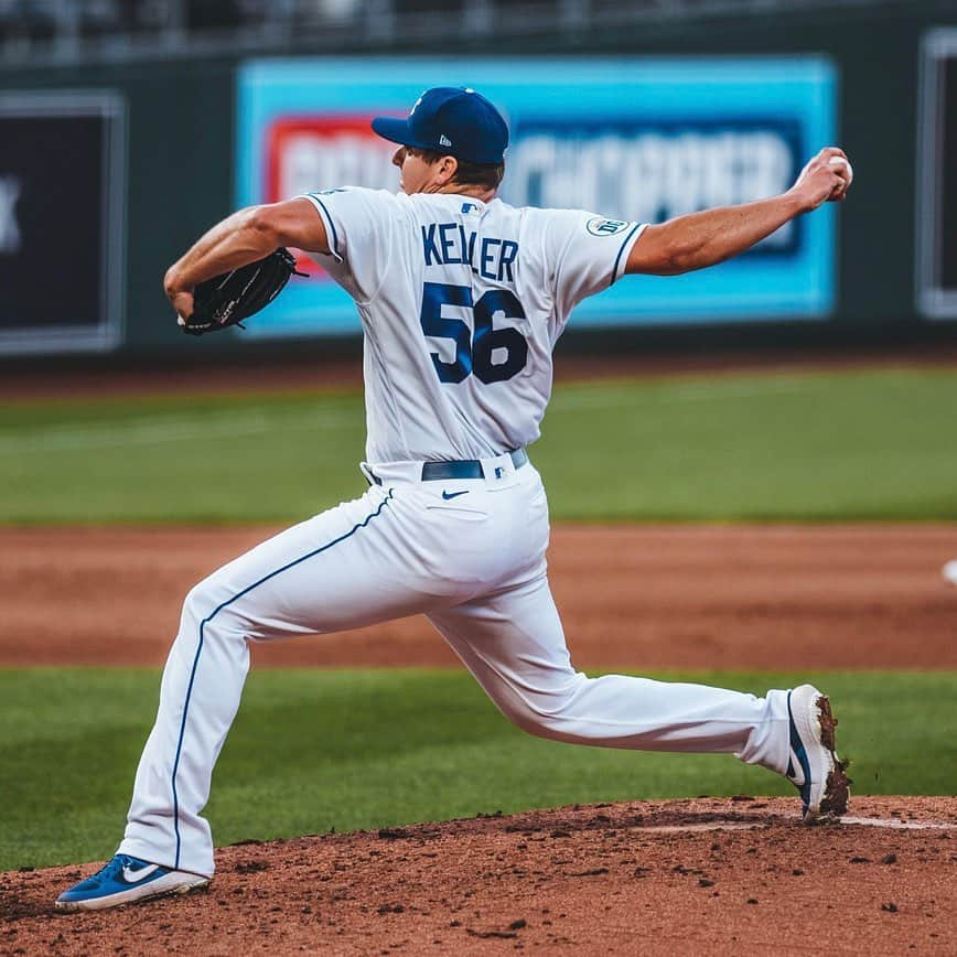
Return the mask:
[[[531,450],[556,519],[957,515],[957,374],[561,386]],[[0,523],[290,521],[364,487],[357,393],[0,409]]]

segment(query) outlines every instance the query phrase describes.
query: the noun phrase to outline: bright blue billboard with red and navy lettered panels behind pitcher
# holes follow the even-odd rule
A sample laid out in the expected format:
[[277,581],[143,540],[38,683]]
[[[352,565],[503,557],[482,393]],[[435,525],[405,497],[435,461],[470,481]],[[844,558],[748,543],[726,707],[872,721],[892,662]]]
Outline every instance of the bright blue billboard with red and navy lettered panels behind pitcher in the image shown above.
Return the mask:
[[[816,56],[252,61],[238,75],[237,204],[340,185],[397,190],[395,146],[369,120],[404,117],[422,89],[449,85],[478,89],[508,120],[503,200],[616,219],[774,195],[836,137],[836,71]],[[572,323],[822,319],[835,300],[834,230],[827,207],[714,269],[630,277],[585,300]],[[357,332],[348,297],[302,262],[309,278],[249,332]]]

